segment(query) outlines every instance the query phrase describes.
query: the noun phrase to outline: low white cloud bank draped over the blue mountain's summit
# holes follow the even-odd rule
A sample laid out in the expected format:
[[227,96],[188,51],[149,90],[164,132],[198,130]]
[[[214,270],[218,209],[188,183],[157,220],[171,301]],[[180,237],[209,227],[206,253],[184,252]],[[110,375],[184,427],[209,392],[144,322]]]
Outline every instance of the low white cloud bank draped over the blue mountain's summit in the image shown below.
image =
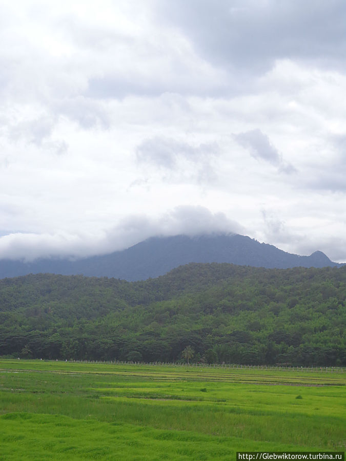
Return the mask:
[[0,259],[83,258],[128,248],[154,236],[234,234],[244,232],[236,221],[203,206],[177,206],[158,217],[129,215],[98,234],[12,233],[0,237]]

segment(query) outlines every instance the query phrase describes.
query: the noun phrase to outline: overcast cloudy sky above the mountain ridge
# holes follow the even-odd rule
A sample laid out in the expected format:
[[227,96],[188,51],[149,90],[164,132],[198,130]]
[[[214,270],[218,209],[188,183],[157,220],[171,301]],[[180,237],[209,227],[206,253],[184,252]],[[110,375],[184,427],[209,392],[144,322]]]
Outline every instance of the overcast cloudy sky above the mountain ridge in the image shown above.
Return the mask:
[[0,0],[0,258],[237,233],[346,261],[343,0]]

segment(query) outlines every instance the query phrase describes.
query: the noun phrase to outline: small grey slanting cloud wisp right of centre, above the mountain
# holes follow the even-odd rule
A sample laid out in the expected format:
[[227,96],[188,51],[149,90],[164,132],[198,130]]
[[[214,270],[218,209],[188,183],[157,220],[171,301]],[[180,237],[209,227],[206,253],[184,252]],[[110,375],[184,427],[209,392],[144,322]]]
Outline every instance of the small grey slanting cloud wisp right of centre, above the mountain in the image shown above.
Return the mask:
[[233,137],[238,144],[250,151],[252,157],[277,166],[279,171],[283,173],[289,174],[296,171],[293,165],[284,162],[282,155],[271,144],[268,136],[263,134],[260,130],[239,133],[233,135]]

